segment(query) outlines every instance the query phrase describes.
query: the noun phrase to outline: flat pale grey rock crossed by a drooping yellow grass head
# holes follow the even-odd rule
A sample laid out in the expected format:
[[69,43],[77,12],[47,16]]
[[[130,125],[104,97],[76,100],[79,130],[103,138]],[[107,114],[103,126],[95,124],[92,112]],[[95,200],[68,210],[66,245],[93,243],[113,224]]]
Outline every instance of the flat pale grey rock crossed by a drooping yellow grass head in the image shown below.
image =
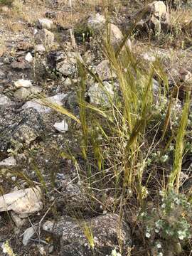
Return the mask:
[[[66,94],[60,93],[58,95],[52,96],[52,97],[47,97],[46,100],[48,100],[48,102],[55,104],[55,105],[59,105],[62,106],[63,105],[63,99],[66,97]],[[28,108],[33,108],[34,110],[36,110],[37,112],[41,113],[41,114],[46,114],[49,113],[51,111],[50,107],[47,106],[43,106],[41,104],[41,100],[31,100],[26,102],[23,107],[22,110],[26,110]]]

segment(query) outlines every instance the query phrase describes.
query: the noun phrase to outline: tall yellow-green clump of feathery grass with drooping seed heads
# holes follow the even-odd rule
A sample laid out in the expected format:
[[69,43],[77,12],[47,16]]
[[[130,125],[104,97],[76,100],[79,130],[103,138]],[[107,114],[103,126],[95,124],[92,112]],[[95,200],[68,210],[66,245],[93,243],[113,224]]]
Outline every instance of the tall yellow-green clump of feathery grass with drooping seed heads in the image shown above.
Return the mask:
[[[172,104],[174,100],[171,95],[170,104],[165,107],[164,100],[168,100],[166,92],[169,86],[164,69],[159,60],[154,63],[145,63],[127,48],[126,41],[133,29],[134,25],[117,50],[111,46],[109,35],[104,42],[105,58],[110,63],[111,73],[116,74],[116,78],[110,81],[113,86],[112,94],[106,90],[101,78],[93,73],[85,63],[78,60],[80,77],[77,87],[78,117],[63,107],[55,107],[43,100],[44,105],[78,122],[81,129],[81,132],[78,131],[81,156],[78,154],[76,158],[74,153],[73,157],[76,166],[81,165],[78,159],[81,161],[83,159],[83,168],[78,168],[80,185],[89,188],[90,198],[95,198],[91,196],[93,191],[99,191],[102,195],[101,203],[103,201],[105,203],[105,199],[102,201],[102,198],[106,198],[106,195],[112,196],[112,206],[107,207],[107,210],[110,208],[112,212],[119,213],[120,219],[123,217],[124,210],[127,210],[130,205],[134,204],[135,208],[146,208],[149,197],[152,200],[156,199],[154,204],[156,203],[155,209],[157,209],[159,206],[157,199],[160,198],[159,187],[165,188],[164,201],[166,203],[169,204],[170,200],[174,200],[173,195],[178,193],[179,188],[183,145],[191,104],[191,99],[187,94],[178,130],[171,131],[170,122],[171,112],[174,111]],[[159,81],[159,92],[156,97],[154,97],[153,90],[154,77]],[[100,91],[106,96],[106,101],[101,99],[96,102],[97,104],[87,102],[87,85],[90,79],[100,87]],[[163,86],[161,87],[160,84]],[[175,134],[177,134],[176,139],[174,139]],[[170,161],[169,166],[172,165],[173,169],[172,171],[166,170],[165,176],[160,172],[161,169],[166,169],[167,158],[165,156],[169,154],[170,145],[173,147],[171,154],[174,154],[174,161]],[[158,162],[158,165],[151,164],[152,155],[159,158],[159,161],[154,161],[154,163]],[[166,188],[169,189],[166,190]],[[157,195],[156,198],[154,194]],[[179,193],[178,198],[180,198]],[[185,206],[188,205],[188,195],[185,200],[182,199],[183,201],[185,201]],[[146,218],[150,217],[150,213],[147,214]],[[157,211],[154,214],[155,218],[159,216]],[[183,212],[179,215],[180,224],[184,223],[182,214]],[[188,211],[185,214],[188,215]],[[160,215],[163,215],[161,217],[165,222],[170,221],[169,212],[162,210]],[[187,230],[184,231],[188,235],[191,223],[186,223],[186,227]],[[182,233],[178,231],[175,229],[175,233],[181,238]],[[90,231],[85,228],[85,233],[91,241]],[[169,240],[169,237],[164,235],[162,238]],[[177,239],[180,238],[177,237]],[[154,241],[156,242],[155,237]]]

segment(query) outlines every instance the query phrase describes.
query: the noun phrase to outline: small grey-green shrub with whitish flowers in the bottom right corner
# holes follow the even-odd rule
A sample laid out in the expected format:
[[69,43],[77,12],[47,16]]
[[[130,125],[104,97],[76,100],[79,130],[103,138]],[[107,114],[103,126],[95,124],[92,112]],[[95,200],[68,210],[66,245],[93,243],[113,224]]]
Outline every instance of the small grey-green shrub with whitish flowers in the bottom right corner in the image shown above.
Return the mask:
[[162,245],[164,248],[167,245],[184,245],[192,232],[192,207],[187,196],[176,193],[174,189],[160,191],[160,194],[160,206],[139,214],[145,237],[152,243],[161,241],[158,242],[159,251],[163,250]]

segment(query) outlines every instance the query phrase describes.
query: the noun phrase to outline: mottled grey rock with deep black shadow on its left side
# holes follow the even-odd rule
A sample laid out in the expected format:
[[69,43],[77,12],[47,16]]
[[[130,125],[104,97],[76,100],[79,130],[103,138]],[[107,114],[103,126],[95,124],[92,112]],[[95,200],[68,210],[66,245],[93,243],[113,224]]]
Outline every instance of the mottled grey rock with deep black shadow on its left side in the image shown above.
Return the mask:
[[47,56],[48,66],[64,76],[73,77],[76,72],[76,53],[63,51],[53,51]]

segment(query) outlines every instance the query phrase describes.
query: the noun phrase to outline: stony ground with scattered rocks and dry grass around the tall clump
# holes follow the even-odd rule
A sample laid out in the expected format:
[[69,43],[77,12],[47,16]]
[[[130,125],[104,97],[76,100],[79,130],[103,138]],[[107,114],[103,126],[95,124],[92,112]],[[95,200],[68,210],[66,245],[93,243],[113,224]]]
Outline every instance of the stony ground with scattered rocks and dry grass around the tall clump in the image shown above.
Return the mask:
[[[137,21],[127,46],[146,63],[161,60],[170,87],[182,85],[182,101],[185,82],[192,81],[191,35],[183,32],[183,19],[168,33],[170,12],[159,2]],[[9,6],[0,0],[0,6],[0,255],[119,255],[114,252],[119,244],[122,255],[160,255],[138,241],[132,210],[119,224],[110,193],[104,196],[98,188],[92,198],[87,196],[89,188],[81,186],[87,170],[80,154],[80,124],[60,108],[80,114],[77,58],[100,75],[113,95],[116,76],[103,54],[100,34],[107,4],[16,0]],[[143,7],[142,1],[108,6],[114,48]],[[189,29],[192,9],[184,7]],[[154,94],[161,86],[155,79]],[[86,95],[92,105],[107,101],[91,79]],[[71,150],[80,169],[65,155]]]

